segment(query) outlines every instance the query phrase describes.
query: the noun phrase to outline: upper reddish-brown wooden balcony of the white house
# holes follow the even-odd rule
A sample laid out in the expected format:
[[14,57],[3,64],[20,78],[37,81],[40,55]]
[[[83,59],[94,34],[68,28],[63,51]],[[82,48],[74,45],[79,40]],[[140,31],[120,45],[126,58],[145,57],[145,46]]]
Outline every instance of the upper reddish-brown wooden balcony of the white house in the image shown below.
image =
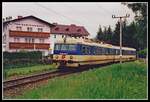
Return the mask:
[[50,37],[49,32],[29,32],[29,31],[15,31],[9,30],[10,37],[37,37],[37,38],[48,38]]

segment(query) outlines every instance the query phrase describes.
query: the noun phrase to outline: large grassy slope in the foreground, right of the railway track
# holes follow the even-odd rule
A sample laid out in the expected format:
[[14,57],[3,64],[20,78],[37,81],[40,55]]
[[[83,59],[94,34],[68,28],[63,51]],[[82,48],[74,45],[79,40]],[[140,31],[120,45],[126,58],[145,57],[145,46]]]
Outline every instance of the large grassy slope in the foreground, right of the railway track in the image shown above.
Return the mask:
[[126,62],[80,74],[51,79],[47,85],[25,91],[16,99],[145,99],[147,68]]

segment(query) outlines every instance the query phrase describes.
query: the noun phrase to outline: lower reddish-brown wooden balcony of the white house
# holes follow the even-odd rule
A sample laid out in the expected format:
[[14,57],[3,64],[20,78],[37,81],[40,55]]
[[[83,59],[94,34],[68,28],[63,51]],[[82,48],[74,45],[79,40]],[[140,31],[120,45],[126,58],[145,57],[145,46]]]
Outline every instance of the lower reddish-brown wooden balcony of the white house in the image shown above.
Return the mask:
[[10,49],[49,49],[50,44],[47,43],[18,43],[18,42],[10,42]]

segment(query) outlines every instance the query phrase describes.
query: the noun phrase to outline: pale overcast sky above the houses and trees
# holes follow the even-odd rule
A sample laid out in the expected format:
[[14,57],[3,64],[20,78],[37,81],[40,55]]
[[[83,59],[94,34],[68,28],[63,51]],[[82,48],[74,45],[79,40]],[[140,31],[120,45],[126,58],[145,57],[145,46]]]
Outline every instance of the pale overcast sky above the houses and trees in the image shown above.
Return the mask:
[[114,29],[118,19],[113,19],[112,14],[130,14],[128,23],[134,17],[133,12],[120,2],[3,2],[2,13],[3,18],[34,15],[50,23],[84,26],[90,37],[96,36],[99,25],[102,28],[110,25]]

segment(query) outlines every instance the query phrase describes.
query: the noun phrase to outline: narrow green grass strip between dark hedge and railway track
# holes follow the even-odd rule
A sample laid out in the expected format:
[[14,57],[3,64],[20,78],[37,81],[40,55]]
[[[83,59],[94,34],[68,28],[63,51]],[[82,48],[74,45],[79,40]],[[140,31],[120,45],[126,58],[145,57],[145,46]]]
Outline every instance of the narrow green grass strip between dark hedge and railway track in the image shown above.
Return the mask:
[[20,67],[20,68],[9,68],[4,69],[4,79],[9,79],[10,77],[19,77],[23,75],[31,75],[34,73],[44,72],[48,70],[55,70],[55,65],[34,65],[30,67]]

